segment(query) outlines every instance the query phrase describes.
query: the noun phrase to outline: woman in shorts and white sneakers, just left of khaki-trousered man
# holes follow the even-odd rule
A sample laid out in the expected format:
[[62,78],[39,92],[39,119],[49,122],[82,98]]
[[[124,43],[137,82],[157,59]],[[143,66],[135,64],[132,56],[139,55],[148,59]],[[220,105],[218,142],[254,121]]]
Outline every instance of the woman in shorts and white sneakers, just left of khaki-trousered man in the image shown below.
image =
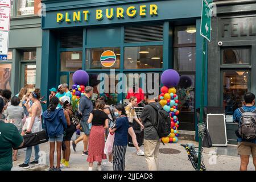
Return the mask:
[[139,121],[139,119],[137,117],[137,114],[136,114],[135,109],[134,109],[135,106],[137,106],[137,98],[136,97],[131,97],[129,99],[129,105],[127,105],[125,107],[126,114],[127,114],[128,120],[129,120],[128,133],[131,136],[131,138],[133,139],[133,145],[137,149],[137,155],[144,155],[144,152],[141,149],[139,149],[136,134],[133,130],[133,121],[134,120],[137,123],[139,123],[139,125],[141,126],[142,129],[144,128],[144,126],[142,125],[142,123]]

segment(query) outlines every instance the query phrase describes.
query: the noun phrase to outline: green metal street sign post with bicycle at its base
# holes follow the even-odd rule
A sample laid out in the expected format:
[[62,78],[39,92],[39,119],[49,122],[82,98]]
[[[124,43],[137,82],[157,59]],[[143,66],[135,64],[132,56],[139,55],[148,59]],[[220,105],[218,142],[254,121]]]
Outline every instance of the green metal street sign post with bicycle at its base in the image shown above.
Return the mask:
[[[204,85],[205,85],[205,61],[206,61],[206,54],[207,51],[207,39],[204,38],[203,42],[203,63],[202,63],[202,82],[201,82],[201,104],[200,104],[200,121],[199,121],[199,126],[201,123],[204,121]],[[199,155],[198,155],[198,165],[197,168],[200,171],[201,168],[201,148],[202,148],[202,138],[201,135],[199,134]]]

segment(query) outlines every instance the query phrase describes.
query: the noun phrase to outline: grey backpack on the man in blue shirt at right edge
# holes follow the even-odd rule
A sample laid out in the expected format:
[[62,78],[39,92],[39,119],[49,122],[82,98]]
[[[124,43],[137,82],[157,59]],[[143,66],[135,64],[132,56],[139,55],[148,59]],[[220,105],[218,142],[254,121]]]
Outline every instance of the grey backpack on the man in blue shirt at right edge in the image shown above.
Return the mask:
[[242,139],[256,139],[256,109],[252,112],[246,112],[240,107],[240,111],[242,117],[238,133],[241,135]]

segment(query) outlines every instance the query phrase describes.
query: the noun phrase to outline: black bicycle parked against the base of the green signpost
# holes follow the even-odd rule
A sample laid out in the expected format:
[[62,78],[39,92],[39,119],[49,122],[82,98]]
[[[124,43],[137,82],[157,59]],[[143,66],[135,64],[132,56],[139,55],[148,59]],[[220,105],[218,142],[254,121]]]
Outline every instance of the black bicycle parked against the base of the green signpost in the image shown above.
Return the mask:
[[[203,158],[201,160],[201,168],[200,169],[197,168],[199,151],[196,150],[196,148],[199,148],[199,147],[195,147],[193,144],[180,144],[180,146],[183,146],[185,148],[185,150],[187,151],[188,160],[191,162],[193,168],[195,168],[196,171],[206,171],[206,168],[205,168],[204,162],[203,162]],[[203,148],[202,148],[201,152],[203,152]]]

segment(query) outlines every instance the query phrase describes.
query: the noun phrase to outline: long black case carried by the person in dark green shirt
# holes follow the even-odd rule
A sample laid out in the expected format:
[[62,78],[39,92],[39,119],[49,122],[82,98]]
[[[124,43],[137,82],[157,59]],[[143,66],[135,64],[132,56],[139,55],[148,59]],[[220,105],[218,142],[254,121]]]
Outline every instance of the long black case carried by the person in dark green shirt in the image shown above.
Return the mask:
[[22,147],[13,148],[14,150],[18,150],[21,148],[27,148],[31,146],[36,146],[41,143],[48,142],[48,135],[46,134],[46,130],[42,130],[36,133],[26,134],[23,136],[24,144]]

